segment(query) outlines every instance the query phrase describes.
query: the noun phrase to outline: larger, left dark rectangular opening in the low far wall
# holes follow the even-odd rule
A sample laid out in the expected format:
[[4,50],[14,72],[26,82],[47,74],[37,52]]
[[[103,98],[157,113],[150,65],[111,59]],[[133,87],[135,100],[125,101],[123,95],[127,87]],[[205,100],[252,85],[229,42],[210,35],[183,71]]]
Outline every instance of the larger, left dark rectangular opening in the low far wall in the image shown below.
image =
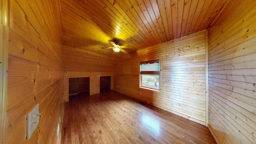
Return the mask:
[[69,78],[69,96],[90,91],[90,78]]

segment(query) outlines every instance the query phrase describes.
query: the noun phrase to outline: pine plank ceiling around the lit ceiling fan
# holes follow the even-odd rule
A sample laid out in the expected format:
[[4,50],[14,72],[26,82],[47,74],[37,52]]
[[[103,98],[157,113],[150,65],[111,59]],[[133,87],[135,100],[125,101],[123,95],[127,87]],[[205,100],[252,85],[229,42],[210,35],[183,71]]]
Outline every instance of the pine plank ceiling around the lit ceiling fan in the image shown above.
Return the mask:
[[65,48],[121,58],[128,53],[207,29],[232,0],[60,0]]

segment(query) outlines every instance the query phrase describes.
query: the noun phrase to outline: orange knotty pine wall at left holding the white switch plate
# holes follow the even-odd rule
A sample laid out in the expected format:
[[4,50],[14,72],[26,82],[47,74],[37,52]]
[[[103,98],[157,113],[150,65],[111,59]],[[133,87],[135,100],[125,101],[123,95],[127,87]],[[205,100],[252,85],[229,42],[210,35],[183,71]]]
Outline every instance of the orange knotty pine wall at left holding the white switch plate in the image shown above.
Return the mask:
[[[60,2],[9,0],[9,4],[7,142],[58,143],[57,126],[64,111],[65,67]],[[26,115],[36,104],[40,122],[27,140]]]

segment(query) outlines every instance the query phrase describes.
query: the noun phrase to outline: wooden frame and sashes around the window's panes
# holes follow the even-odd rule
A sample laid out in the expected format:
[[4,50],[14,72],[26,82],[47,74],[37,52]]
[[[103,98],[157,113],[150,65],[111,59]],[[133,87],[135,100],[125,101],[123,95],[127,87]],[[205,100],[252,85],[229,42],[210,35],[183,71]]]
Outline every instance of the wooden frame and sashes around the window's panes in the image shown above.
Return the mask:
[[[146,62],[152,62],[152,61],[158,61],[159,60],[159,71],[144,71],[144,74],[141,74],[141,63],[146,63]],[[138,62],[139,64],[139,88],[143,88],[143,89],[147,89],[147,90],[153,90],[153,91],[158,91],[158,92],[162,92],[162,60],[161,58],[155,58],[153,60],[146,60],[146,61],[140,61]],[[158,84],[158,88],[152,88],[152,87],[148,87],[148,86],[142,86],[142,76],[143,75],[157,75],[159,76],[159,84]]]

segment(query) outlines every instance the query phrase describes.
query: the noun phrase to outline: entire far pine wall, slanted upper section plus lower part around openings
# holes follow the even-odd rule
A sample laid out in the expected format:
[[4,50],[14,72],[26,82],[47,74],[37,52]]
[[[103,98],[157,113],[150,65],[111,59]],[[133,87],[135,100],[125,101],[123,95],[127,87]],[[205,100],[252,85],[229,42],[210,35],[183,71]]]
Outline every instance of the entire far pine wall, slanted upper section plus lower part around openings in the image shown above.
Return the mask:
[[68,102],[69,78],[90,77],[90,95],[100,93],[100,76],[111,76],[113,87],[113,70],[118,61],[102,54],[64,46],[65,48],[65,102]]

